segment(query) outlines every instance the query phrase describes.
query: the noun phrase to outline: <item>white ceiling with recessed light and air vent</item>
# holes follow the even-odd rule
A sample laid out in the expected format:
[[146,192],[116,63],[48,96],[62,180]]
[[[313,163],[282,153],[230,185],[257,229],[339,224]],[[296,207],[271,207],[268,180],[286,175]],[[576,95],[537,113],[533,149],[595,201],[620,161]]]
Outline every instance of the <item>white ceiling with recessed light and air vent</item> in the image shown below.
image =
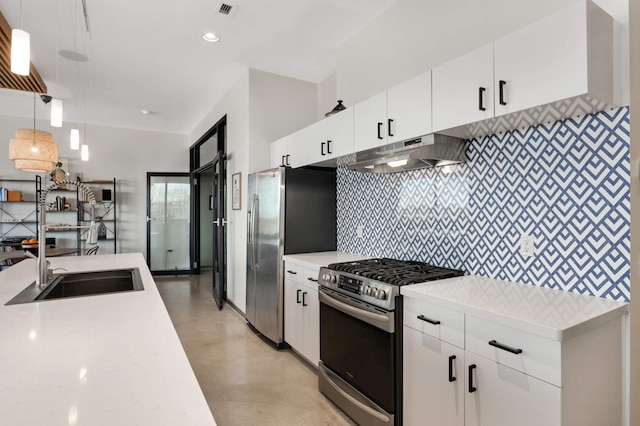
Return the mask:
[[[19,0],[0,0],[0,11],[31,34],[32,62],[64,101],[65,127],[86,113],[92,124],[187,134],[248,68],[324,80],[336,48],[395,2],[237,0],[225,16],[217,0],[86,0],[90,37],[82,0],[22,0],[22,25]],[[220,42],[203,41],[208,31]],[[0,115],[32,118],[33,107],[32,94],[0,89]]]

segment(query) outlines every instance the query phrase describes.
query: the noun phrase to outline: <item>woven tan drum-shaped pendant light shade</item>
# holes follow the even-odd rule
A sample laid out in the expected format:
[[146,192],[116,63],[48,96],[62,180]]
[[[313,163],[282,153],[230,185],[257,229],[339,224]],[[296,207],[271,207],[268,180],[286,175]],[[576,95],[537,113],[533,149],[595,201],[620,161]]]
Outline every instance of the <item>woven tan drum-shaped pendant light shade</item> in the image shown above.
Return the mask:
[[16,137],[9,140],[9,159],[18,170],[49,172],[58,162],[58,145],[49,132],[18,129]]

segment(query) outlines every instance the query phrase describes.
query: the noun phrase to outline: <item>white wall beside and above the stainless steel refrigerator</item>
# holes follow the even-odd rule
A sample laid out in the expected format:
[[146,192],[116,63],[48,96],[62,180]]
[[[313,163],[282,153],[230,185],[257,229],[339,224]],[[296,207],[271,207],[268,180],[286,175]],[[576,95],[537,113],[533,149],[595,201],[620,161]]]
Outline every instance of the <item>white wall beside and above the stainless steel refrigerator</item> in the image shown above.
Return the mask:
[[[242,173],[242,203],[227,203],[227,299],[246,310],[247,176],[269,168],[269,143],[315,121],[316,85],[249,70],[189,136],[198,140],[227,116],[227,182]],[[229,200],[228,200],[229,201]]]

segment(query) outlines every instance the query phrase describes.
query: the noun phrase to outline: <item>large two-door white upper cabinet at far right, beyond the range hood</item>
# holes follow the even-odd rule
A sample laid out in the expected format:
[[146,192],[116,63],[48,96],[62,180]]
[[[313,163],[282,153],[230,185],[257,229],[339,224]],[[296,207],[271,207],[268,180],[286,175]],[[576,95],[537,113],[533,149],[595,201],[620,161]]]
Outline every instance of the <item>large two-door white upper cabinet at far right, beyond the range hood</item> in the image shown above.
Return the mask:
[[614,33],[613,18],[582,0],[435,68],[434,132],[478,123],[463,132],[475,137],[616,105]]

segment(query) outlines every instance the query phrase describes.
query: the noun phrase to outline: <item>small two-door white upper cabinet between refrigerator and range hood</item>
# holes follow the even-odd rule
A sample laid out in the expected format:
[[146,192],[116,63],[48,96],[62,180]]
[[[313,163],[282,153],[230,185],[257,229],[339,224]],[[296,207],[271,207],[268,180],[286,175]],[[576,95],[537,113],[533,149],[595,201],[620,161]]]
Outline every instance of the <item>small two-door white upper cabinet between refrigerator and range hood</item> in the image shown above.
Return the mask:
[[353,152],[353,108],[303,129],[306,164],[322,163]]

